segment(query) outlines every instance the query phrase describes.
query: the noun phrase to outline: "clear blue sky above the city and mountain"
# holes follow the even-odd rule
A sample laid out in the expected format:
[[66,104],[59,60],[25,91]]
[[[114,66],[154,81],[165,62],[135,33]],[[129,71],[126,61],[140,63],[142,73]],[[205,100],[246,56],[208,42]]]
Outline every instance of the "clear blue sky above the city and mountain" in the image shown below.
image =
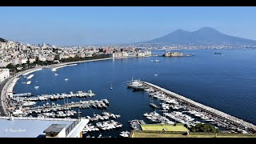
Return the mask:
[[0,38],[23,43],[143,42],[205,26],[256,40],[256,7],[0,7],[0,14]]

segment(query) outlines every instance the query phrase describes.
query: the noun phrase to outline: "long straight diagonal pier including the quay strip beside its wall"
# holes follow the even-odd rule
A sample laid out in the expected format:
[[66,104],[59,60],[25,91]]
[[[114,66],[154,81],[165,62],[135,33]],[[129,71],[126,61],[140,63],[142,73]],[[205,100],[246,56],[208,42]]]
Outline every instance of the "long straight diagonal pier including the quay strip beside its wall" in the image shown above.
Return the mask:
[[178,102],[182,103],[190,107],[191,110],[198,110],[203,114],[206,114],[208,117],[214,119],[216,122],[221,122],[222,125],[225,126],[233,126],[235,129],[242,130],[256,130],[256,126],[254,124],[245,122],[242,119],[235,118],[230,114],[223,113],[222,111],[215,110],[209,106],[202,105],[201,103],[194,102],[189,98],[185,98],[182,95],[176,94],[170,90],[163,89],[162,87],[151,84],[150,82],[141,82],[145,87],[153,87],[154,90],[158,92],[162,92],[162,94],[166,94],[166,96],[175,98]]

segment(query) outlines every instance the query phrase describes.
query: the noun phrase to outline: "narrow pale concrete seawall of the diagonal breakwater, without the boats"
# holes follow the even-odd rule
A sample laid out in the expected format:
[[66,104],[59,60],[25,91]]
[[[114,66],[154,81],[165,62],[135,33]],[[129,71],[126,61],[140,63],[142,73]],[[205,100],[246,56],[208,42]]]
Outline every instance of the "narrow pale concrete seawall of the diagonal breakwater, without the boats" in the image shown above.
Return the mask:
[[230,114],[226,114],[226,113],[223,113],[222,111],[216,110],[216,109],[211,108],[209,106],[205,106],[205,105],[202,105],[201,103],[194,102],[193,100],[191,100],[189,98],[185,98],[182,95],[176,94],[176,93],[174,93],[174,92],[172,92],[170,90],[163,89],[162,87],[156,86],[156,85],[154,85],[154,84],[152,84],[150,82],[142,82],[142,83],[144,83],[144,84],[146,84],[148,86],[153,86],[155,89],[161,90],[162,92],[164,92],[166,94],[170,94],[174,98],[177,98],[178,100],[180,100],[182,102],[186,102],[186,103],[190,104],[191,106],[195,106],[195,107],[197,107],[197,108],[199,108],[201,110],[204,110],[204,111],[206,111],[206,112],[208,112],[210,114],[214,114],[215,116],[218,116],[220,118],[226,119],[226,121],[234,122],[238,126],[244,126],[244,127],[248,127],[248,128],[256,130],[256,126],[254,126],[254,124],[252,124],[252,123],[245,122],[242,119],[235,118],[234,116],[232,116]]

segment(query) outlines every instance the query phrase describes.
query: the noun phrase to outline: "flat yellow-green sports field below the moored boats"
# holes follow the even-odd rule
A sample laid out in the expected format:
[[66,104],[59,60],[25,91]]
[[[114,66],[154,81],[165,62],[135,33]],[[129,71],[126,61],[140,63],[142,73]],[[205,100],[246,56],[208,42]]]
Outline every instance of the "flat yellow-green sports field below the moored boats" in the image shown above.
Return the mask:
[[186,127],[183,126],[183,124],[178,124],[176,126],[170,125],[170,124],[146,124],[146,125],[141,125],[142,130],[146,131],[162,131],[163,129],[165,131],[188,131]]

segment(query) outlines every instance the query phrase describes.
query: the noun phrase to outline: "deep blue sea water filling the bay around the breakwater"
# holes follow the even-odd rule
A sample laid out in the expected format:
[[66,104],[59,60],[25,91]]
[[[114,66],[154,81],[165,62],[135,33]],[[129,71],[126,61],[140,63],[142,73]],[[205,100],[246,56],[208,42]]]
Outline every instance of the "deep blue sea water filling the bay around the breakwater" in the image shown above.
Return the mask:
[[[143,119],[148,122],[142,114],[154,111],[149,105],[150,97],[146,92],[127,89],[126,83],[132,77],[256,124],[256,50],[172,51],[193,56],[122,58],[78,63],[77,66],[66,66],[55,72],[50,69],[39,70],[33,73],[30,85],[22,84],[28,80],[20,78],[14,91],[17,94],[31,92],[39,95],[92,90],[97,95],[82,100],[107,98],[110,106],[106,111],[122,116],[117,121],[124,126],[119,130],[100,132],[103,136],[118,137],[120,131],[130,130],[127,121]],[[215,52],[222,54],[214,54]],[[164,50],[154,50],[153,53],[164,54]],[[155,59],[160,62],[151,61]],[[65,81],[65,78],[69,80]],[[113,90],[110,90],[111,83]],[[34,86],[39,88],[36,90]],[[71,98],[69,102],[79,100],[80,98]],[[57,102],[63,104],[64,100]],[[42,103],[46,102],[38,102],[38,105]],[[102,113],[102,110],[93,108],[81,111],[81,116]],[[89,133],[96,136],[98,134]]]

